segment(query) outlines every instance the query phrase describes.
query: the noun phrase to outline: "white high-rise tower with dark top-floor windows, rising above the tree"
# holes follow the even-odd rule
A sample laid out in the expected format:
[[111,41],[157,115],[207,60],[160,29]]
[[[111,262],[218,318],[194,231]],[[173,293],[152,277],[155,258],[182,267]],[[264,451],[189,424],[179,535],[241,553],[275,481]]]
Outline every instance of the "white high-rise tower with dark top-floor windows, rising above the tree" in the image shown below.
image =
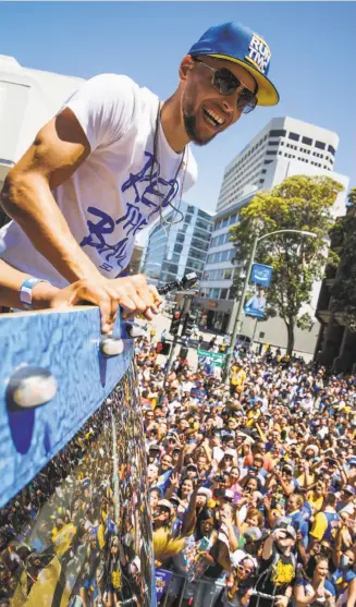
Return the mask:
[[337,146],[339,136],[332,131],[295,118],[273,118],[228,165],[217,213],[243,198],[251,186],[269,189],[271,165],[278,159],[299,160],[331,171]]

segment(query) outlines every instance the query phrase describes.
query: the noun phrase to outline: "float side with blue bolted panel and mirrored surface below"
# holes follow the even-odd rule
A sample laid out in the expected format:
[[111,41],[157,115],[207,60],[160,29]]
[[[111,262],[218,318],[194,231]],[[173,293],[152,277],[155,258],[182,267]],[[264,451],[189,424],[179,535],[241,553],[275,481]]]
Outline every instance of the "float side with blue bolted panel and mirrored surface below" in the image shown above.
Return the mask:
[[96,307],[0,315],[1,605],[156,607],[133,357]]

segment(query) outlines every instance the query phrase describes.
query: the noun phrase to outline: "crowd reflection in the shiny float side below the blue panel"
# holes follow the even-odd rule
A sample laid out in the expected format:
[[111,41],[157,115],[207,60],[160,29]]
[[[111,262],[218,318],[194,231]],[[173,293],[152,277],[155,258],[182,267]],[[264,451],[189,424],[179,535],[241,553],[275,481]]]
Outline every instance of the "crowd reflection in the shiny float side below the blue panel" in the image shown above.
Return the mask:
[[151,531],[134,369],[0,509],[1,607],[150,607]]

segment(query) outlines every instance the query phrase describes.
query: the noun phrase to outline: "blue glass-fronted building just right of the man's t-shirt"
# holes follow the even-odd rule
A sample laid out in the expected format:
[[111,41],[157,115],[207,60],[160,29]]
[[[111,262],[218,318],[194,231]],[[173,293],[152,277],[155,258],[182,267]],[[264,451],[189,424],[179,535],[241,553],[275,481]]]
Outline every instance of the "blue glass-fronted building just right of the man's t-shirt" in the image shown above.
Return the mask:
[[143,254],[142,270],[155,282],[163,283],[181,280],[189,271],[195,271],[200,279],[209,248],[213,228],[213,218],[209,213],[182,201],[182,221],[174,223],[177,217],[170,213],[165,221],[149,231]]

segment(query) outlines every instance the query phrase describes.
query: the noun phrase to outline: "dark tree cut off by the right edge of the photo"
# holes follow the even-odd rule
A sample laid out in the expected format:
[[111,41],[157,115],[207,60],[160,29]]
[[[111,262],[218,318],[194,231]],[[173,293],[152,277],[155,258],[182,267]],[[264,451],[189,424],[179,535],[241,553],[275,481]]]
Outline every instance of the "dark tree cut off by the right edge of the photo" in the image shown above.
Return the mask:
[[347,214],[335,222],[331,239],[341,259],[331,289],[331,309],[342,314],[347,327],[356,331],[356,187],[348,192]]

